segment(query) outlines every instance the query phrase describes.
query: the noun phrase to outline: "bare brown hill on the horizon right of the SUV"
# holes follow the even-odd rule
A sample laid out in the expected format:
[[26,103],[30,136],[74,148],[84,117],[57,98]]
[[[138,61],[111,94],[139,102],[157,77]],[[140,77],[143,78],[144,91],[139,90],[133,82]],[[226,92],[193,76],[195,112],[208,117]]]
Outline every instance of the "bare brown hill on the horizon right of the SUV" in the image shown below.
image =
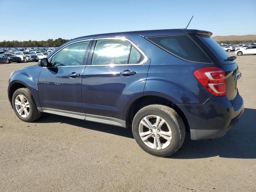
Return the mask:
[[217,42],[256,42],[256,35],[229,35],[229,36],[214,36],[212,37]]

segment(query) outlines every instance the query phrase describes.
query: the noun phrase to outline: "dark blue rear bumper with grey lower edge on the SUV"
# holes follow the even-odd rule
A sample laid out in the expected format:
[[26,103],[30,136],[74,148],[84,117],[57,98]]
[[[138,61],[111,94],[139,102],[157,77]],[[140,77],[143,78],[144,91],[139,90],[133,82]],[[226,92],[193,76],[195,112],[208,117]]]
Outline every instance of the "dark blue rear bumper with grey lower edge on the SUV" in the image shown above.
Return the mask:
[[179,106],[190,127],[191,140],[214,139],[224,136],[244,112],[239,93],[233,100],[212,96],[202,105]]

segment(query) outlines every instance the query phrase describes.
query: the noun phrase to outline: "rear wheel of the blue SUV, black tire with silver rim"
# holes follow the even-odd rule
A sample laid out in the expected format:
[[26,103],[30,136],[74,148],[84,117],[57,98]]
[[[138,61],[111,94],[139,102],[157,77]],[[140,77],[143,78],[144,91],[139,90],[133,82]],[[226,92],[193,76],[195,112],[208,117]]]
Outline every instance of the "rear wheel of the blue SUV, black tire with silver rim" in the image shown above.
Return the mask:
[[[158,125],[161,124],[162,120],[165,120],[165,123],[159,128],[154,128],[159,117],[160,121]],[[141,123],[145,118],[153,124],[150,127],[152,128],[151,130]],[[184,142],[186,134],[184,122],[178,113],[168,106],[158,104],[146,106],[137,112],[132,122],[132,133],[136,142],[144,151],[158,157],[166,157],[174,154]],[[140,134],[142,138],[148,137],[148,139],[144,142]],[[163,134],[165,134],[165,137],[167,134],[170,134],[171,137],[168,136],[170,140],[168,141],[163,138]],[[160,146],[158,141],[160,141]],[[155,142],[156,145],[154,144]]]

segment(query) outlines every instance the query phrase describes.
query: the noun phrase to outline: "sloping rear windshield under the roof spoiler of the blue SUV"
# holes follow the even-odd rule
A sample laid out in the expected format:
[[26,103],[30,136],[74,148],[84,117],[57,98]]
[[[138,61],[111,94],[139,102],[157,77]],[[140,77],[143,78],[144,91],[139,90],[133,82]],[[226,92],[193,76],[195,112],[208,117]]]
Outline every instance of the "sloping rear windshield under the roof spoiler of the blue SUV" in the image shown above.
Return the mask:
[[234,63],[234,61],[224,61],[226,58],[230,57],[230,55],[212,38],[203,35],[198,35],[198,37],[208,46],[218,60],[220,60],[221,64]]

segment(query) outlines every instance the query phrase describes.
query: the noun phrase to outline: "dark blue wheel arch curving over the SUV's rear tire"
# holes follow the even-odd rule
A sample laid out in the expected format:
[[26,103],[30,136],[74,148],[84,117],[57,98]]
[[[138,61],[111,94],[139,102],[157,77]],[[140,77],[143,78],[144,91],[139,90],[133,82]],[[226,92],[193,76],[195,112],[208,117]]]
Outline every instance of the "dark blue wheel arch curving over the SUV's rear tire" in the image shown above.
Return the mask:
[[182,110],[176,104],[174,104],[174,102],[172,102],[171,100],[166,99],[161,96],[154,96],[154,95],[142,96],[140,98],[137,98],[134,102],[132,102],[132,104],[130,104],[130,106],[126,112],[126,127],[128,127],[128,128],[131,127],[132,120],[133,120],[135,114],[141,108],[148,106],[148,105],[152,105],[152,104],[161,104],[161,105],[168,106],[168,107],[176,110],[176,112],[181,116],[181,118],[185,124],[186,132],[190,132],[188,120],[187,120],[185,114],[182,112]]

